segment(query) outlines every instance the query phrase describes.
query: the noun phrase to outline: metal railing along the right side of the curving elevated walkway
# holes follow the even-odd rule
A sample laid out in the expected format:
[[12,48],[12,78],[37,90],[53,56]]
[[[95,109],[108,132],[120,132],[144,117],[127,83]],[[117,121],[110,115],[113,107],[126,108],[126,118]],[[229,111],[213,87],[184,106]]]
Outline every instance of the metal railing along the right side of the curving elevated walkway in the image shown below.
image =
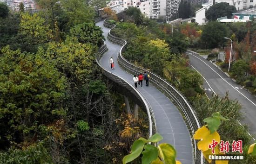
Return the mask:
[[[104,20],[104,26],[111,28],[108,32],[108,39],[115,44],[121,45],[121,50],[118,53],[117,61],[123,67],[123,69],[127,70],[131,74],[139,74],[143,72],[147,72],[150,74],[149,81],[153,83],[159,90],[161,90],[165,95],[168,96],[172,102],[175,102],[176,106],[178,106],[181,110],[183,115],[186,117],[186,121],[189,124],[189,131],[191,132],[191,136],[195,134],[195,131],[200,128],[200,123],[197,120],[196,113],[192,106],[190,105],[189,101],[185,98],[185,96],[182,95],[177,89],[175,89],[172,84],[170,84],[166,79],[149,72],[146,69],[141,69],[134,64],[128,62],[123,56],[122,53],[125,51],[125,47],[127,42],[121,38],[117,38],[114,35],[111,34],[111,30],[115,28],[114,24],[108,23],[107,19]],[[153,113],[153,111],[152,111]],[[193,147],[193,153],[194,153],[194,164],[203,164],[203,155],[202,152],[196,149],[197,141],[195,139],[192,139],[192,147]]]

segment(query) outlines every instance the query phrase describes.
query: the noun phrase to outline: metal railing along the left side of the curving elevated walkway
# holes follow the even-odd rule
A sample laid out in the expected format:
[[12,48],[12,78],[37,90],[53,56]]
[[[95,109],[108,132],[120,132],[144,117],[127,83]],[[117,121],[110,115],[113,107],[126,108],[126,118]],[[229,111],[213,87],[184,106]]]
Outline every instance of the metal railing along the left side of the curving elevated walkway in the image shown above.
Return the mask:
[[[102,55],[106,51],[108,51],[108,47],[107,47],[107,44],[104,43],[99,48],[98,52],[95,54],[95,59],[96,59],[97,64],[101,67],[102,73],[106,77],[108,77],[108,79],[110,79],[111,81],[116,82],[120,86],[128,89],[128,91],[130,91],[132,95],[135,95],[135,97],[141,102],[142,106],[146,109],[147,114],[148,114],[149,137],[151,137],[152,136],[152,132],[153,132],[153,130],[152,130],[152,119],[154,120],[155,117],[151,115],[150,108],[148,107],[148,103],[146,102],[145,98],[143,98],[143,96],[139,93],[139,91],[137,89],[135,89],[131,84],[126,82],[120,76],[116,76],[115,74],[111,73],[110,71],[108,71],[107,69],[105,69],[104,67],[101,66],[100,60],[101,60]],[[155,131],[154,131],[153,134],[155,134]]]

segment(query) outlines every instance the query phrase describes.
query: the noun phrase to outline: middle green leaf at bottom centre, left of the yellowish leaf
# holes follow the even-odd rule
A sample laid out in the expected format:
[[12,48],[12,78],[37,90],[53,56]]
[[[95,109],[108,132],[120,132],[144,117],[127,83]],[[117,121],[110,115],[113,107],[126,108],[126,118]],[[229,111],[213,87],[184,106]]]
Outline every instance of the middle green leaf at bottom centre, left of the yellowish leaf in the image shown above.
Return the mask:
[[141,162],[142,164],[150,164],[158,157],[158,149],[153,145],[145,145],[144,149],[141,153],[143,154]]

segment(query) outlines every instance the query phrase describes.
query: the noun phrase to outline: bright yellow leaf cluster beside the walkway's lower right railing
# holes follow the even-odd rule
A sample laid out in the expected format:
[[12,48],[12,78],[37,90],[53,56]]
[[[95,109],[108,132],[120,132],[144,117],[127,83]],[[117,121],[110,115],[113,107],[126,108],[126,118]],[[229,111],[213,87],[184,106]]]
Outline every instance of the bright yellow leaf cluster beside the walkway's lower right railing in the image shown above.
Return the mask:
[[194,139],[201,139],[197,146],[198,149],[202,151],[207,151],[209,149],[209,144],[211,144],[213,140],[216,140],[218,143],[221,140],[218,132],[210,134],[210,131],[206,126],[202,126],[195,132]]

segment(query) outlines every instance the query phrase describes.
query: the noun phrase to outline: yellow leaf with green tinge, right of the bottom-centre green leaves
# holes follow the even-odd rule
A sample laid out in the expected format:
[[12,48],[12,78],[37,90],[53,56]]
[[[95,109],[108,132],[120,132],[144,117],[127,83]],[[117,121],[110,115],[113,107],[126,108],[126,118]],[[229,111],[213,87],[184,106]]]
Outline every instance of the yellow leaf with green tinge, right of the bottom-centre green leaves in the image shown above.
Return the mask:
[[159,157],[164,161],[164,164],[175,164],[176,151],[170,144],[162,143],[158,145]]

